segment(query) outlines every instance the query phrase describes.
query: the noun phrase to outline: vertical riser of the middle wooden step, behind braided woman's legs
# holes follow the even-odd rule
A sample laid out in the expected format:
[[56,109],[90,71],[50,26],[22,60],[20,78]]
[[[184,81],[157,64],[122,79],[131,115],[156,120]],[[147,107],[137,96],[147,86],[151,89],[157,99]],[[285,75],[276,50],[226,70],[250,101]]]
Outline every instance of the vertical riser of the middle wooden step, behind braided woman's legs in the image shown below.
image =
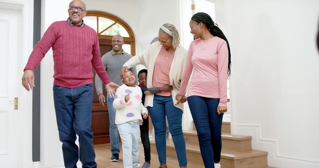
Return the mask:
[[[184,134],[184,137],[185,137],[185,141],[187,144],[194,144],[194,145],[198,145],[198,147],[199,147],[197,135]],[[232,139],[222,138],[222,148],[235,150],[235,151],[239,151],[239,152],[250,151],[250,150],[252,150],[251,139],[232,140]]]

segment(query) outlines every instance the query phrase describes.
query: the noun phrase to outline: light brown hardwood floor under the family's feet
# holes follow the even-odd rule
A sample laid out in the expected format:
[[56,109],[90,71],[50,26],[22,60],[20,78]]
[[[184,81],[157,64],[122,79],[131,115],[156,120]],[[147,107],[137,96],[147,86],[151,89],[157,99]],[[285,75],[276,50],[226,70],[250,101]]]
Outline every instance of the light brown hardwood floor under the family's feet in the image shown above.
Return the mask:
[[[120,144],[120,146],[122,146]],[[119,162],[111,162],[111,150],[110,150],[110,144],[102,144],[102,145],[95,145],[95,162],[98,165],[98,168],[123,168],[123,156],[122,152],[120,153],[120,161]],[[121,147],[122,151],[122,147]],[[160,167],[158,155],[151,153],[151,168],[158,168]],[[144,160],[144,149],[142,143],[140,143],[140,155],[139,155],[139,161],[141,163],[141,166],[143,166],[145,160]],[[166,163],[168,168],[179,168],[178,161],[173,158],[166,158]],[[196,163],[188,163],[188,168],[204,168],[203,165],[196,164]]]

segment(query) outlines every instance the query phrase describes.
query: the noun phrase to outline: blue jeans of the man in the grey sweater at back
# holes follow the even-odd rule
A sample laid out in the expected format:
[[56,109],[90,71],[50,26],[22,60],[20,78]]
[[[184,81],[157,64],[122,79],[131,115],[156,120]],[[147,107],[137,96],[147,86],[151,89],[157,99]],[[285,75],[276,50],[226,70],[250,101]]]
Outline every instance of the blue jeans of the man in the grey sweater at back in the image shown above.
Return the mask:
[[116,110],[113,107],[114,98],[112,98],[109,94],[107,94],[106,101],[107,101],[107,105],[108,105],[109,120],[110,120],[111,152],[112,152],[112,154],[119,154],[120,153],[120,137],[119,137],[118,127],[115,124]]

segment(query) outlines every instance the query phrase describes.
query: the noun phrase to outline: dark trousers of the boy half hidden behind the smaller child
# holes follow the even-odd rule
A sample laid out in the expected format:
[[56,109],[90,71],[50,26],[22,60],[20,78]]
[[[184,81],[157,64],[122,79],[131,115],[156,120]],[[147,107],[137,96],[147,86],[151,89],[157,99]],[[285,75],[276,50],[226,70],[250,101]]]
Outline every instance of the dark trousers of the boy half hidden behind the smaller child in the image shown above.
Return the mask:
[[[142,117],[143,118],[143,117]],[[149,117],[143,118],[143,125],[140,125],[141,130],[141,141],[144,148],[145,162],[151,161],[151,146],[149,138]]]

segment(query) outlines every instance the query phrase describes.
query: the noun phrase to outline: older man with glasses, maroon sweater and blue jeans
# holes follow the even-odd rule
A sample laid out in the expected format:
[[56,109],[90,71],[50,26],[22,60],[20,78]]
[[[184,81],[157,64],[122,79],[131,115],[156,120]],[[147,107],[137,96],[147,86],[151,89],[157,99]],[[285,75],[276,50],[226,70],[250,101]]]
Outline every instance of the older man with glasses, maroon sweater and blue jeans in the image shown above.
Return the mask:
[[[34,47],[22,77],[22,85],[29,91],[34,87],[33,71],[52,47],[54,107],[65,168],[76,168],[79,159],[83,168],[97,167],[91,130],[92,68],[110,96],[114,96],[119,86],[111,82],[105,72],[97,34],[83,21],[85,8],[81,0],[70,2],[68,19],[48,27]],[[75,144],[76,135],[80,148]]]

